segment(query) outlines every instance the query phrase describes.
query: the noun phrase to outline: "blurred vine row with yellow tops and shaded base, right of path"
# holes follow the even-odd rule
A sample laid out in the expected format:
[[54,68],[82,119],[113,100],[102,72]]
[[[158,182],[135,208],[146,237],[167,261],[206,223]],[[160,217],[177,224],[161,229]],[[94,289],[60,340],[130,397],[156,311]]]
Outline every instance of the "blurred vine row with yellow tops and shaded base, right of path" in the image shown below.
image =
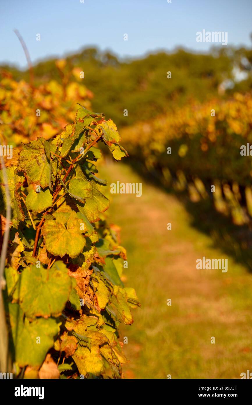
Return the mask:
[[241,155],[241,145],[252,143],[251,128],[252,95],[235,93],[227,101],[169,111],[122,134],[131,156],[164,185],[187,189],[194,201],[212,197],[218,211],[241,225],[252,215],[251,157]]

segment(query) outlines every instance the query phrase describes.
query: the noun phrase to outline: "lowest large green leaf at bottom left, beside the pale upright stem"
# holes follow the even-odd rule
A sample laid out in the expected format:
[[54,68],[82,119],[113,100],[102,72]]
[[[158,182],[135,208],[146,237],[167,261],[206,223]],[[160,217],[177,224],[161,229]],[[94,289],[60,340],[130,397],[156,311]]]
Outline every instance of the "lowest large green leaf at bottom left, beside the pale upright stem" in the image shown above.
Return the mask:
[[60,324],[52,318],[38,318],[29,322],[18,304],[9,304],[8,308],[15,362],[19,367],[27,364],[40,366],[53,346],[53,337],[59,333]]

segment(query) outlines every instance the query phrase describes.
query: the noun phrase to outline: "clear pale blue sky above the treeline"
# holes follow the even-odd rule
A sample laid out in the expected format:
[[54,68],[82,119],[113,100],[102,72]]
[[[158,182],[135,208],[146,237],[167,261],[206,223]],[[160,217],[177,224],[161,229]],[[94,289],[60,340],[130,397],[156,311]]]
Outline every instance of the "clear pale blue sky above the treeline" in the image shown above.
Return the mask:
[[252,0],[0,0],[0,63],[25,67],[14,28],[33,63],[93,45],[120,57],[180,45],[207,51],[212,44],[195,39],[203,29],[227,31],[228,45],[251,46]]

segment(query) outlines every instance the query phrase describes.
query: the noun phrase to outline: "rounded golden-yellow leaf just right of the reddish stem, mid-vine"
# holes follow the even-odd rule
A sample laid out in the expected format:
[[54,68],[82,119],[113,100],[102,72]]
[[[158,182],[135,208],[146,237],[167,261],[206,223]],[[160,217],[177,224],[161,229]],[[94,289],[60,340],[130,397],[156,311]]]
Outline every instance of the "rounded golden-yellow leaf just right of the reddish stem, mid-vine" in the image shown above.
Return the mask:
[[84,231],[80,229],[80,219],[75,213],[56,211],[53,215],[56,220],[46,220],[41,229],[48,252],[54,256],[68,254],[71,258],[77,257],[86,244],[82,235]]

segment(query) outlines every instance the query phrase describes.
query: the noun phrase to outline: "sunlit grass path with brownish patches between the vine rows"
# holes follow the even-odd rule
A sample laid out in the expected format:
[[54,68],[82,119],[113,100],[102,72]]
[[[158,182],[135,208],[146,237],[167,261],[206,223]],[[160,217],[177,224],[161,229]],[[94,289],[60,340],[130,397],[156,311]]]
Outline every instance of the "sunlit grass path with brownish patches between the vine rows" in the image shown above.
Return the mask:
[[[121,328],[128,337],[126,378],[240,378],[252,371],[252,275],[191,226],[176,197],[129,166],[107,162],[100,177],[142,183],[140,198],[109,196],[108,219],[121,226],[127,249],[126,285],[142,304],[134,324]],[[203,256],[228,258],[227,273],[196,270]]]

